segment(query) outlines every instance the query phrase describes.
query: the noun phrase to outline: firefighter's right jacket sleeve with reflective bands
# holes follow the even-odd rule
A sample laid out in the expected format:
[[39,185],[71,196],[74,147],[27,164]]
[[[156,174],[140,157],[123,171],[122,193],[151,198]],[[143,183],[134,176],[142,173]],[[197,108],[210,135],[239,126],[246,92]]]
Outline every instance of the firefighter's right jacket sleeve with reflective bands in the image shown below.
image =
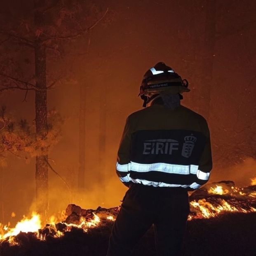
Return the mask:
[[212,157],[211,157],[211,139],[210,132],[207,122],[205,121],[205,146],[202,155],[199,160],[198,170],[197,170],[197,181],[190,185],[193,190],[200,188],[202,185],[207,183],[210,178],[210,173],[212,169]]

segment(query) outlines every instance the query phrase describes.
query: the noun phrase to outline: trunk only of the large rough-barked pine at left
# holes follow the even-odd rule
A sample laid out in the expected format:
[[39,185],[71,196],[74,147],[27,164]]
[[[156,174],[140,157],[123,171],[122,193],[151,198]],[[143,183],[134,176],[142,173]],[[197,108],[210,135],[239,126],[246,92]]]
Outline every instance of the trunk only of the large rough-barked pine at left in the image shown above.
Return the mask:
[[[43,13],[40,7],[45,4],[43,0],[34,0],[35,26],[43,25]],[[35,127],[38,139],[44,139],[47,134],[47,85],[46,85],[46,49],[38,36],[35,39]],[[48,213],[48,167],[45,148],[41,148],[41,154],[35,158],[35,190],[37,210],[47,216]]]

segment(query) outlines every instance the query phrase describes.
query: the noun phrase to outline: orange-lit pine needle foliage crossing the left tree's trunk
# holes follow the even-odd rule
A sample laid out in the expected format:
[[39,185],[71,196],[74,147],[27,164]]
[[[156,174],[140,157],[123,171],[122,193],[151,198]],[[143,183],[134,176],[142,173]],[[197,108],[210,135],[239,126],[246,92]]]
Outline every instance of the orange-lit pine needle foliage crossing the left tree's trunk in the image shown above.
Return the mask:
[[[41,154],[42,148],[44,148],[45,154],[46,152],[50,152],[53,146],[59,142],[63,123],[59,113],[56,110],[48,111],[47,120],[47,133],[44,139],[40,139],[37,136],[35,123],[31,125],[25,119],[17,122],[7,113],[5,106],[0,108],[1,183],[3,183],[4,169],[8,164],[8,154],[23,158],[26,162],[29,162],[31,157],[37,157]],[[47,161],[45,162],[48,164]]]

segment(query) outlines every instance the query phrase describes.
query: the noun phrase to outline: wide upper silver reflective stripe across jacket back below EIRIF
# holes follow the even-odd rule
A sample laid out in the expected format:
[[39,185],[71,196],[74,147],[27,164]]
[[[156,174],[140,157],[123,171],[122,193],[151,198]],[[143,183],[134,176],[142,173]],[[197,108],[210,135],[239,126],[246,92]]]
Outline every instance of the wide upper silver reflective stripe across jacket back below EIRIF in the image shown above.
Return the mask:
[[131,162],[131,171],[147,172],[147,171],[162,171],[171,174],[197,174],[198,165],[180,165],[180,164],[139,164]]

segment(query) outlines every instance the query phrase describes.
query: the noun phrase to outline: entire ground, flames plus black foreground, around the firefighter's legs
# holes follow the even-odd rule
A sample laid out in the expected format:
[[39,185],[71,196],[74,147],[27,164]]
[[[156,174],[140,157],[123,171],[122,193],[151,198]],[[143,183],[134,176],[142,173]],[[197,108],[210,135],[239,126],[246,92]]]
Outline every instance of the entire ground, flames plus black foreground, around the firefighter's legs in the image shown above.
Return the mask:
[[[40,215],[23,217],[14,228],[0,224],[0,255],[105,256],[120,207],[96,210],[68,205],[44,225]],[[168,213],[167,213],[168,214]],[[232,181],[207,184],[190,195],[185,255],[256,255],[256,180],[237,188]],[[153,228],[134,255],[156,255]]]

